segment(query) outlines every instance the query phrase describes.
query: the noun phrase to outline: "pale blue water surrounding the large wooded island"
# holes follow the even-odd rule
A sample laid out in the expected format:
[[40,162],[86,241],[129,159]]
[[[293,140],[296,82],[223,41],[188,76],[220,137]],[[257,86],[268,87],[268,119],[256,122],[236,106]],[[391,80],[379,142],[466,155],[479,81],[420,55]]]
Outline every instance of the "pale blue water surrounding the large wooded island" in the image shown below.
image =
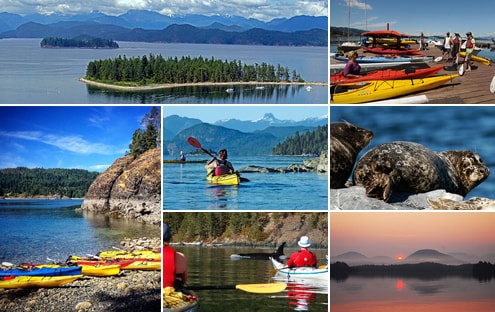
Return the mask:
[[327,48],[195,45],[119,42],[120,49],[42,49],[41,39],[0,40],[0,103],[33,104],[127,104],[127,103],[328,103],[328,87],[175,88],[156,92],[120,93],[87,87],[77,79],[86,74],[90,61],[119,55],[203,56],[266,62],[295,69],[306,81],[328,81]]

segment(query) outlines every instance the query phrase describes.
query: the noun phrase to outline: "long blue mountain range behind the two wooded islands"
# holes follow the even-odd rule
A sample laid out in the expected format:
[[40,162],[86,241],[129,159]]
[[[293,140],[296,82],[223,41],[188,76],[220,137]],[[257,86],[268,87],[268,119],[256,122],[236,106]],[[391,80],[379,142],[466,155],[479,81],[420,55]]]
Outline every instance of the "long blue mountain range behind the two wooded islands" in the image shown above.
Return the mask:
[[294,16],[262,22],[240,16],[165,16],[128,11],[120,16],[0,13],[0,38],[74,38],[167,43],[326,46],[326,16]]

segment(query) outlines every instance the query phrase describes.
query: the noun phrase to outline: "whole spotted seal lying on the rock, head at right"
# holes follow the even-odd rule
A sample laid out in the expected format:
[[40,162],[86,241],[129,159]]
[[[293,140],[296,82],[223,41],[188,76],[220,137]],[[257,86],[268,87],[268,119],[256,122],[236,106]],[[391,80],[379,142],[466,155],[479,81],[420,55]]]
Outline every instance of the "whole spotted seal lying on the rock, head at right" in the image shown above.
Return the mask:
[[444,189],[466,196],[490,170],[467,150],[434,152],[413,142],[391,142],[369,150],[358,161],[353,181],[368,197],[388,201],[392,192],[424,193]]

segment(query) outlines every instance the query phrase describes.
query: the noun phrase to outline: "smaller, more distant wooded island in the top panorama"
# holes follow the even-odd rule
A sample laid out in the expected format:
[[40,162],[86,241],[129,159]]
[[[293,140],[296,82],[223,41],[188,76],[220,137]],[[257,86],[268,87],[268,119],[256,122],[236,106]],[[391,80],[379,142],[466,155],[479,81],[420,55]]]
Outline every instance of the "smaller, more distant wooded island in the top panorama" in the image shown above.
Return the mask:
[[118,49],[117,42],[103,38],[80,36],[72,39],[47,37],[40,43],[42,48],[86,48],[86,49]]

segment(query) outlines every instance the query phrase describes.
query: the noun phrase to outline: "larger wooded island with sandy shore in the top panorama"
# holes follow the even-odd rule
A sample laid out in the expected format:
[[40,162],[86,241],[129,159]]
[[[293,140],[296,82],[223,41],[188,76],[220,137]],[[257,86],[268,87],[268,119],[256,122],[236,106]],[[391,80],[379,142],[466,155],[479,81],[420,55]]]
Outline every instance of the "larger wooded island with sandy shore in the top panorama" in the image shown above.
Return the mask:
[[144,86],[149,84],[299,82],[295,71],[280,64],[243,64],[215,58],[169,57],[150,54],[142,57],[97,60],[88,64],[86,80],[108,84]]

